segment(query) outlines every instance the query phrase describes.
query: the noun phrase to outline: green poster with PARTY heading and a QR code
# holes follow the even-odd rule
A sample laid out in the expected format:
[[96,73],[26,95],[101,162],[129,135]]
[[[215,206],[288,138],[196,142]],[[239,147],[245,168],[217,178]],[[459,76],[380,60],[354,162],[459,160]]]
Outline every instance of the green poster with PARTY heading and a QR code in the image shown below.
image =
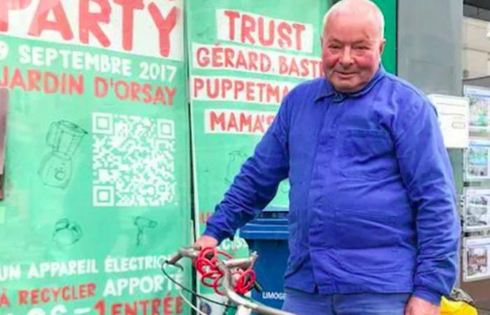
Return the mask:
[[183,1],[0,2],[0,314],[190,313],[184,52]]

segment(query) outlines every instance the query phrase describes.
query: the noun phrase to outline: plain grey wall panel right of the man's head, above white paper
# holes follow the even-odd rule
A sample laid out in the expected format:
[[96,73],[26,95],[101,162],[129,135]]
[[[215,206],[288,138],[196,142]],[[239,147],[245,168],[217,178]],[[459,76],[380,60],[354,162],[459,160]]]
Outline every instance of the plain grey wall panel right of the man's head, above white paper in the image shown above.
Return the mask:
[[402,78],[427,94],[461,95],[462,12],[462,1],[398,1]]

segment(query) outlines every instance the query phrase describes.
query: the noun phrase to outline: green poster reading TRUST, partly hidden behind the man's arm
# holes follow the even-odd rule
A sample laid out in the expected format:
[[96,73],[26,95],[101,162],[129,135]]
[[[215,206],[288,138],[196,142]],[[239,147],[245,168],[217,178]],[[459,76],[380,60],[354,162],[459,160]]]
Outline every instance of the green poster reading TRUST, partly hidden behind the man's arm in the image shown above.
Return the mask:
[[[196,230],[272,123],[297,83],[321,76],[321,21],[326,1],[190,0],[188,54]],[[298,10],[298,6],[301,9]],[[288,208],[288,183],[267,206]],[[243,239],[221,248],[246,255]],[[260,258],[259,258],[260,259]],[[203,293],[212,291],[201,287]],[[216,296],[215,296],[216,297]],[[216,297],[217,298],[217,297]],[[222,309],[201,302],[209,314]]]

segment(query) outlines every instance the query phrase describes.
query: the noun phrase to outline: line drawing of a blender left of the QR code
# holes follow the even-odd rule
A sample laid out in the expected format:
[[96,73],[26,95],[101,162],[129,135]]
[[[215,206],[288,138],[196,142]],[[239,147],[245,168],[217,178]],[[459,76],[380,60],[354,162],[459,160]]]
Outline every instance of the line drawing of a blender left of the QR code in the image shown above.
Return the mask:
[[66,188],[71,179],[71,158],[87,132],[78,125],[66,120],[59,120],[50,125],[46,144],[52,148],[45,156],[38,170],[38,175],[47,186]]

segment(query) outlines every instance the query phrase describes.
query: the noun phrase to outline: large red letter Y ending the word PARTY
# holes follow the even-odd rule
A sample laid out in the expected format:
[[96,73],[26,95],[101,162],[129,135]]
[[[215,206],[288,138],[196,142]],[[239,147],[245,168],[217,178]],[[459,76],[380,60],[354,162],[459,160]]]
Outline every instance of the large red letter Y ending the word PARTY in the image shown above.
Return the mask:
[[170,10],[167,18],[162,17],[162,13],[158,9],[155,3],[150,3],[148,6],[151,18],[158,29],[159,39],[160,39],[160,55],[163,57],[169,57],[170,54],[170,33],[177,24],[177,13],[179,10],[176,6]]

